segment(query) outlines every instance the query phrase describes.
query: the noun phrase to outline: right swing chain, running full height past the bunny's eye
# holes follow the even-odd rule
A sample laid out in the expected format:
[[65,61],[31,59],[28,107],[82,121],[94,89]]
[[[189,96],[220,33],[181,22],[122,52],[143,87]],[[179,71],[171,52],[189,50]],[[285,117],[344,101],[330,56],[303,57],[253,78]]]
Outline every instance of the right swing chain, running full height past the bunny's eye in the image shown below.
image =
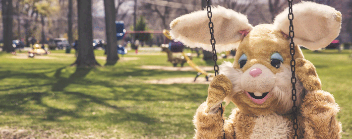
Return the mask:
[[296,62],[294,61],[294,43],[293,43],[293,37],[294,37],[294,32],[293,32],[293,9],[292,9],[292,1],[293,0],[287,0],[289,2],[289,20],[290,20],[290,27],[289,27],[289,37],[291,39],[290,42],[290,53],[291,53],[291,71],[292,71],[292,77],[291,77],[291,83],[292,83],[292,101],[293,101],[293,106],[292,106],[292,111],[293,111],[293,130],[294,130],[294,135],[293,139],[298,139],[297,135],[297,130],[298,130],[298,119],[297,119],[297,106],[296,106],[296,77],[295,77],[295,65]]

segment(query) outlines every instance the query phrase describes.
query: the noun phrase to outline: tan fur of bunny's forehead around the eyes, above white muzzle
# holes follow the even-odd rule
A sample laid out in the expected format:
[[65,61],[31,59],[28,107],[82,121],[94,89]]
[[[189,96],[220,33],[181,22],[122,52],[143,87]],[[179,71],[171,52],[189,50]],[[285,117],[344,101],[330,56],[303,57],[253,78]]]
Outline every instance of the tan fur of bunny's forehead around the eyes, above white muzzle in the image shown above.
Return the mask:
[[[271,38],[271,39],[268,39]],[[260,24],[253,28],[238,46],[235,55],[234,68],[239,69],[237,61],[242,54],[248,57],[247,64],[241,69],[248,70],[254,64],[262,64],[277,73],[280,70],[270,65],[270,56],[279,52],[284,58],[284,64],[290,65],[291,55],[288,48],[288,39],[272,24]],[[294,58],[304,58],[298,46],[295,46]]]

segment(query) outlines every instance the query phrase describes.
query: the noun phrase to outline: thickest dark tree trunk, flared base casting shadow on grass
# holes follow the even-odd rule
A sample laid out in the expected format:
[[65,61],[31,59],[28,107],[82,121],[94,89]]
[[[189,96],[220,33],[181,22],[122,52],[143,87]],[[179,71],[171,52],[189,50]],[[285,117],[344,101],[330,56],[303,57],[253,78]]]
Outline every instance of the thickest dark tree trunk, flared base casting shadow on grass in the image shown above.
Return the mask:
[[100,66],[93,51],[92,1],[77,0],[78,7],[78,56],[72,65],[77,67]]

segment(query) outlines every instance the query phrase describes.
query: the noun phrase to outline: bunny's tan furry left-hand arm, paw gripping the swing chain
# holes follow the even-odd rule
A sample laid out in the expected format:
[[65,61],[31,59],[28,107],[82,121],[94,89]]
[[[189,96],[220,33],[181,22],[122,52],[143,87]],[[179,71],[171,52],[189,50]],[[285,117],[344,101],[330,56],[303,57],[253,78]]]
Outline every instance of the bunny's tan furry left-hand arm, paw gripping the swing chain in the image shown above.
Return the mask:
[[224,136],[224,98],[233,90],[225,75],[217,75],[210,82],[207,101],[201,104],[194,116],[195,139],[222,139]]

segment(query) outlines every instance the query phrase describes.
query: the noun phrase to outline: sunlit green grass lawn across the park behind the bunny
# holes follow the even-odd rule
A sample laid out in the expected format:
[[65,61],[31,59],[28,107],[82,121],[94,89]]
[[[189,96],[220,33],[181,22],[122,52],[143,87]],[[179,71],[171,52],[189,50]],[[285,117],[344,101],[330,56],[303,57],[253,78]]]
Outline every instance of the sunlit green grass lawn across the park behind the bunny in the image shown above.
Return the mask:
[[[303,50],[317,68],[323,90],[341,110],[343,138],[352,138],[352,59],[349,51]],[[72,54],[52,51],[46,59],[22,59],[0,52],[0,134],[53,139],[190,139],[206,84],[149,84],[150,79],[194,77],[196,71],[144,70],[172,66],[165,53],[127,54],[112,67],[70,67]],[[105,64],[104,51],[95,51]],[[134,58],[134,59],[132,59]],[[132,59],[127,61],[128,59]],[[199,58],[200,66],[212,66]],[[222,60],[219,60],[218,64]],[[233,59],[228,61],[233,62]],[[187,65],[185,65],[187,66]],[[201,76],[203,77],[203,76]],[[234,104],[227,106],[228,116]],[[1,137],[0,136],[0,137]]]

